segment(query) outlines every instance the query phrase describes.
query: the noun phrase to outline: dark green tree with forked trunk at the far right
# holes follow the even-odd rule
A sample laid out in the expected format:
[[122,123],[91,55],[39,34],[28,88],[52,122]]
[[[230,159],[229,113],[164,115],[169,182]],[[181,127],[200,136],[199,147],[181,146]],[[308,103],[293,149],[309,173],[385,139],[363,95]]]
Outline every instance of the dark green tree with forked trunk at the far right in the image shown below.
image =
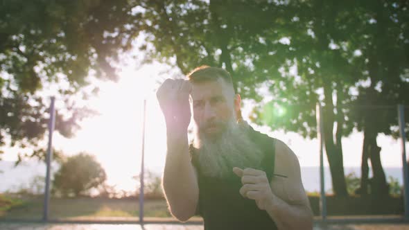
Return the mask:
[[[351,109],[352,121],[364,134],[359,190],[362,195],[368,193],[368,160],[374,175],[372,194],[389,193],[376,136],[379,133],[397,136],[396,105],[409,103],[408,7],[404,1],[364,1],[356,9],[361,23],[356,26],[357,33],[350,45],[358,51],[354,59],[354,65],[360,69],[358,74],[369,82],[358,88]],[[406,110],[408,121],[409,109]],[[408,131],[408,123],[406,126]]]

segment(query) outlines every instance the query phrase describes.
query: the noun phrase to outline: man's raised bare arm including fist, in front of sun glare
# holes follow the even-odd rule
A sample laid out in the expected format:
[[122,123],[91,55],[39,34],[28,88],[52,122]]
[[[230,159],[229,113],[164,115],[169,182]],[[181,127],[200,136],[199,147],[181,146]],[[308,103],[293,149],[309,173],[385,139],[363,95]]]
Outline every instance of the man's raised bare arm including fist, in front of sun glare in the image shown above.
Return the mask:
[[157,91],[166,120],[167,153],[162,185],[169,209],[175,218],[186,221],[195,214],[199,188],[189,157],[187,127],[191,120],[189,94],[185,80],[167,79]]

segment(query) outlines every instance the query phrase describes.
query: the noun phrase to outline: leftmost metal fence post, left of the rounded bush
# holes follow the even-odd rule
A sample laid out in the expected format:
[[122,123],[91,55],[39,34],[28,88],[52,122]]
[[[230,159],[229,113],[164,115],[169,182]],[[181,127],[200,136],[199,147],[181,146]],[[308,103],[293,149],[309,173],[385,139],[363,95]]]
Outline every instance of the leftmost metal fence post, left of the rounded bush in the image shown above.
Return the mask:
[[55,126],[55,97],[51,97],[50,105],[50,120],[49,120],[49,145],[46,155],[46,188],[44,191],[44,208],[42,220],[44,222],[49,220],[49,202],[50,202],[50,174],[51,161],[53,159],[53,132]]

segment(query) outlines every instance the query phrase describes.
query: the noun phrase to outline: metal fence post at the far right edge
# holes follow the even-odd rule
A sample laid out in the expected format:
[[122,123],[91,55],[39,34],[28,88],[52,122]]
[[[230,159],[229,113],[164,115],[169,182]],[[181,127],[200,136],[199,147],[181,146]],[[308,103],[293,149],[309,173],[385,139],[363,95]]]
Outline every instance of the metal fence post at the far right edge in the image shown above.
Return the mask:
[[406,159],[406,135],[405,135],[405,107],[398,105],[399,132],[402,143],[402,163],[403,163],[403,200],[405,201],[405,219],[409,220],[409,181],[408,181],[408,161]]

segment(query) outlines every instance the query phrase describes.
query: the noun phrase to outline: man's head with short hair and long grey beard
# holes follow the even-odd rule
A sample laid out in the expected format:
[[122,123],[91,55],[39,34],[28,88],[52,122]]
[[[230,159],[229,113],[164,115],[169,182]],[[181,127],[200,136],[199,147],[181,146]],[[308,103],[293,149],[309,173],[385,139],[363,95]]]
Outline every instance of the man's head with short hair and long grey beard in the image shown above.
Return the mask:
[[200,170],[210,177],[232,175],[233,167],[256,168],[263,157],[249,127],[236,123],[240,97],[223,79],[194,83],[191,91]]

